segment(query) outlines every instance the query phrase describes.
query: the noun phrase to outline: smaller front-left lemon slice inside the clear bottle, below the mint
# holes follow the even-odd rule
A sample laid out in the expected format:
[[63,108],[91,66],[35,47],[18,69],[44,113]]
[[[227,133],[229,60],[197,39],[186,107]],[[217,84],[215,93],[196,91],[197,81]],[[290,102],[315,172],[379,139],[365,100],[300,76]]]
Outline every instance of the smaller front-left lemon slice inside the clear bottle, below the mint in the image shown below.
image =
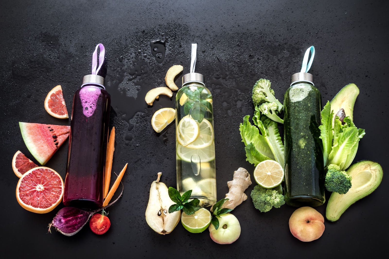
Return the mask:
[[176,138],[180,145],[187,146],[194,142],[200,134],[198,123],[192,117],[183,117],[176,129]]

